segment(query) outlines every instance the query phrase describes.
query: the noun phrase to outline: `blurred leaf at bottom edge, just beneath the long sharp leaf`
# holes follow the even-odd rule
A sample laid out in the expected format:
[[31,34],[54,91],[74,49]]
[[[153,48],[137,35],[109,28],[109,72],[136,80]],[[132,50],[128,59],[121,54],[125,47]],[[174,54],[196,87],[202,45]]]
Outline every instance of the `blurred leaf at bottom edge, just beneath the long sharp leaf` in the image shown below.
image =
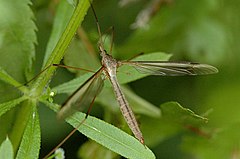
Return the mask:
[[[81,146],[78,156],[82,159],[116,159],[117,154],[93,141],[88,141]],[[119,157],[118,157],[119,158]]]

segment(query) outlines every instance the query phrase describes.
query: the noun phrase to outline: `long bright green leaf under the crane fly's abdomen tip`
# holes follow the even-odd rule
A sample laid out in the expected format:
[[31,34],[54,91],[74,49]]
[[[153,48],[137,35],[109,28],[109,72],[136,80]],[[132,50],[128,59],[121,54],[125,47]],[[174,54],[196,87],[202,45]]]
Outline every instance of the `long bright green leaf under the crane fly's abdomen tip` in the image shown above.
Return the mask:
[[[55,112],[59,109],[59,107],[52,103],[46,101],[42,102]],[[86,114],[84,113],[77,112],[66,119],[66,121],[73,127],[78,127],[79,123],[85,118],[85,115]],[[126,158],[155,158],[151,150],[142,145],[136,138],[95,117],[88,116],[87,120],[78,128],[78,130],[92,140]]]

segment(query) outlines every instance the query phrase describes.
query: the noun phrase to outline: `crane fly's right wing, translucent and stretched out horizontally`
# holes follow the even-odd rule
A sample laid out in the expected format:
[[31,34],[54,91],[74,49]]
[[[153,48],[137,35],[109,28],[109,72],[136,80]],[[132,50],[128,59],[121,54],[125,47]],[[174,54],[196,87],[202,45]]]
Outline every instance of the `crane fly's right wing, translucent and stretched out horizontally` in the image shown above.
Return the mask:
[[162,76],[181,75],[204,75],[217,73],[217,68],[193,62],[171,62],[171,61],[122,61],[135,67],[141,73]]

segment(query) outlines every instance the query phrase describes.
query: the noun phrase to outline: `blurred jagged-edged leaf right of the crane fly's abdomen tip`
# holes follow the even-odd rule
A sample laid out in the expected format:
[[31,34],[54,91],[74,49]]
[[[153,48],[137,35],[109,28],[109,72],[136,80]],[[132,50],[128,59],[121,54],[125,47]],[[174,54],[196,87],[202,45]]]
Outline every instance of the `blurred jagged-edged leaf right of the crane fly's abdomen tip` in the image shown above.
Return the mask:
[[147,145],[157,145],[159,142],[185,130],[202,135],[199,127],[206,123],[206,118],[176,102],[164,103],[160,108],[162,117],[157,119],[141,118],[142,131]]

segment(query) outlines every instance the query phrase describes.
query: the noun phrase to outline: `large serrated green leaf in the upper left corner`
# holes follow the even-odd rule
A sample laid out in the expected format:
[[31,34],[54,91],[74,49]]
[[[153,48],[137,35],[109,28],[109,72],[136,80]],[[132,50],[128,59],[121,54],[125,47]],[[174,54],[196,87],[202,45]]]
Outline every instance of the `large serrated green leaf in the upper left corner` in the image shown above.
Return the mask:
[[37,41],[30,4],[30,0],[0,2],[0,65],[21,83],[32,69]]

